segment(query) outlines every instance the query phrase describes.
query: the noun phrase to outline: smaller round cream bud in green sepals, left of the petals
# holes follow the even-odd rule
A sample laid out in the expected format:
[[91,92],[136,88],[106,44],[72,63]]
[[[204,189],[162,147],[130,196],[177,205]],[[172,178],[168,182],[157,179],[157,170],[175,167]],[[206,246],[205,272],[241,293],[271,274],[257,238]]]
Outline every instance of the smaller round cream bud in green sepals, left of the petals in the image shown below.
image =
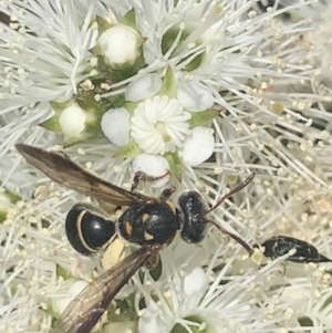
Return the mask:
[[80,137],[85,127],[86,114],[76,103],[64,108],[59,116],[59,125],[65,136]]

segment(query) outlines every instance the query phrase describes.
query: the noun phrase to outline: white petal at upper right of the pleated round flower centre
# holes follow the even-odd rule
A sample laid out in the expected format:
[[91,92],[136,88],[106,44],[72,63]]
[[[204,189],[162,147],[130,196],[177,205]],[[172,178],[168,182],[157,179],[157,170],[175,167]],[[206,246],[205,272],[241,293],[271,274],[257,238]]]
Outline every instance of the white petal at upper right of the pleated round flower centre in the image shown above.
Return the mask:
[[214,95],[199,82],[179,82],[177,98],[188,111],[205,111],[214,105]]

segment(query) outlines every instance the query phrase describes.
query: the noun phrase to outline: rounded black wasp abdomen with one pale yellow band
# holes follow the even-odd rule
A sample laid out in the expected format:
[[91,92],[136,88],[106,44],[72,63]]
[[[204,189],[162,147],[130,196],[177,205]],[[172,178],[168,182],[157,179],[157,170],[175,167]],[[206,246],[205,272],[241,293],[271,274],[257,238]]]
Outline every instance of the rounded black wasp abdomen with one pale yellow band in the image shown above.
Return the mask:
[[65,219],[65,232],[72,247],[84,256],[94,254],[115,235],[113,221],[95,215],[83,204],[75,205]]

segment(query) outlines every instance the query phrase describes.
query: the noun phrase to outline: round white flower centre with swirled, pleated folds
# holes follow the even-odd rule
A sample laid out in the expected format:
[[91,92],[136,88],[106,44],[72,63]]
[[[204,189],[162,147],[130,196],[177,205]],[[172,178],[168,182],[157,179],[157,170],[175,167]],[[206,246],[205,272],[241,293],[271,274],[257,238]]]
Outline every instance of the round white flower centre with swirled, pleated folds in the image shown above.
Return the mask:
[[132,136],[145,153],[164,155],[183,146],[190,134],[184,112],[175,98],[155,96],[138,104],[132,117]]

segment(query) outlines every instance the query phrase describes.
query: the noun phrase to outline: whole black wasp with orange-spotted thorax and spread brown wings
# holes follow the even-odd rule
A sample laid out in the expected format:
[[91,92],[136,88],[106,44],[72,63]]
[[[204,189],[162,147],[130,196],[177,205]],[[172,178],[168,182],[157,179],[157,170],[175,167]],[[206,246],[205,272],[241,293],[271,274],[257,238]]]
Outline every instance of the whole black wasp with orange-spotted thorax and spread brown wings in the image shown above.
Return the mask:
[[[152,268],[158,252],[169,244],[179,232],[189,242],[200,242],[208,223],[239,242],[248,252],[253,250],[238,236],[222,229],[206,215],[227,198],[246,187],[255,177],[251,174],[243,183],[221,197],[214,207],[206,209],[197,191],[184,192],[176,208],[168,199],[174,189],[165,189],[160,198],[127,191],[84,170],[59,153],[19,144],[17,149],[28,163],[40,169],[53,181],[69,189],[96,199],[101,207],[128,207],[117,221],[94,214],[90,207],[79,204],[68,214],[66,236],[82,254],[92,254],[105,246],[115,233],[141,248],[92,281],[64,310],[52,333],[87,333],[96,324],[123,285],[143,266]],[[110,206],[108,206],[110,207]]]

